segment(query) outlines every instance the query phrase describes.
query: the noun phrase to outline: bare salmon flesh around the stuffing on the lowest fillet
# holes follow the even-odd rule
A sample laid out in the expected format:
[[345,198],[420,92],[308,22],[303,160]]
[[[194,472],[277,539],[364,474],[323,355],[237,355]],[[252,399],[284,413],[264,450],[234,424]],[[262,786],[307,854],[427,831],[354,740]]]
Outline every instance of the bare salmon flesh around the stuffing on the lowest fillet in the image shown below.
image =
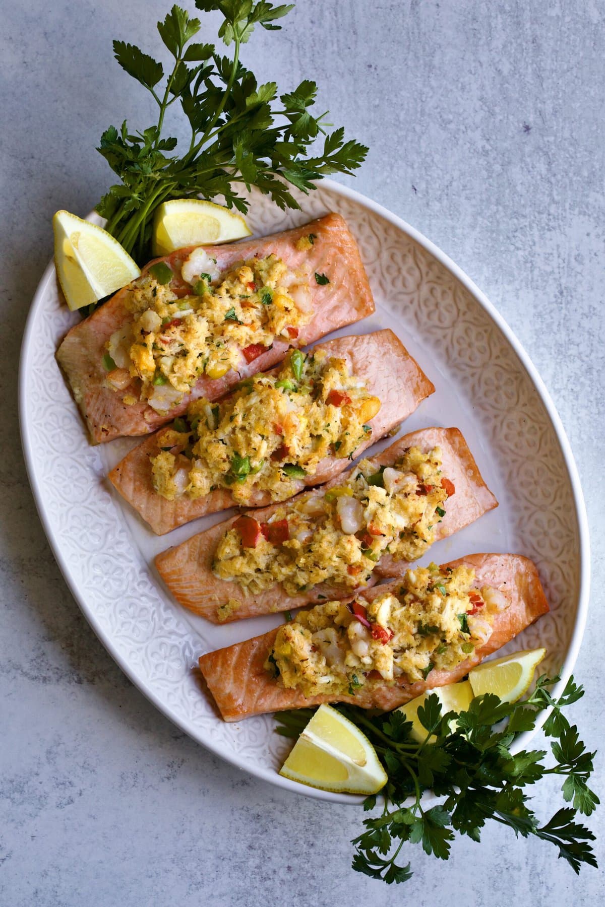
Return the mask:
[[[477,587],[491,588],[503,596],[505,607],[493,614],[489,639],[473,647],[473,653],[453,668],[434,668],[425,679],[415,682],[409,682],[404,675],[391,682],[376,678],[357,689],[354,696],[340,693],[307,697],[298,688],[284,687],[281,679],[268,669],[268,657],[274,650],[280,628],[273,629],[263,636],[201,656],[200,671],[221,716],[225,721],[238,721],[266,712],[324,702],[347,702],[362,708],[391,710],[426,690],[464,678],[483,658],[510,642],[549,610],[538,571],[528,558],[516,554],[472,554],[444,564],[441,570],[454,571],[461,566],[474,571]],[[370,610],[378,596],[396,592],[400,582],[391,581],[365,590],[356,596],[356,604],[364,602]]]

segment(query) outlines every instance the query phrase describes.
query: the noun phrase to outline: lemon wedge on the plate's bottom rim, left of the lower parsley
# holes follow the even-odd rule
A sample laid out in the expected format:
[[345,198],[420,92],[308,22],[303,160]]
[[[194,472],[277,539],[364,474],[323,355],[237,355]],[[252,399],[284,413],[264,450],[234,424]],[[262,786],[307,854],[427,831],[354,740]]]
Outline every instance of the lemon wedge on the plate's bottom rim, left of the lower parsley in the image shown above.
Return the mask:
[[374,746],[336,708],[320,706],[280,775],[325,791],[376,794],[386,784]]

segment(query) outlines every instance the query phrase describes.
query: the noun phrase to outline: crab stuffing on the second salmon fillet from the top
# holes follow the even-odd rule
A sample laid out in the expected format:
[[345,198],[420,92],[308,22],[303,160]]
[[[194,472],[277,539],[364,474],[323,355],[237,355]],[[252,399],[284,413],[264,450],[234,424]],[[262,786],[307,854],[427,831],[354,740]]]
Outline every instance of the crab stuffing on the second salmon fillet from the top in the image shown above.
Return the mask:
[[161,431],[153,487],[169,501],[217,488],[229,488],[242,504],[255,491],[284,501],[325,457],[352,457],[379,409],[346,359],[291,350],[275,374],[248,378],[219,403],[197,400],[186,418]]

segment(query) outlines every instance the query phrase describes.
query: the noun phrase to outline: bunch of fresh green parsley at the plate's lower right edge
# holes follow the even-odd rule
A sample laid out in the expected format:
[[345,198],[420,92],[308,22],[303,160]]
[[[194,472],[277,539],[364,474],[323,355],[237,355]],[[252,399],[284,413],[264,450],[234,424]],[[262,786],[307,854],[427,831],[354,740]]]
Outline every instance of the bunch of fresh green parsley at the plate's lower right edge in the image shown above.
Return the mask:
[[[599,803],[588,786],[595,754],[587,752],[578,728],[561,713],[583,690],[570,678],[555,700],[548,688],[559,679],[542,675],[532,695],[513,705],[492,694],[477,697],[460,715],[442,715],[438,698],[429,696],[418,709],[426,729],[422,743],[410,736],[412,725],[402,712],[372,717],[360,708],[339,707],[372,741],[388,775],[382,813],[366,819],[366,831],[352,842],[353,868],[386,883],[406,882],[413,874],[410,863],[397,863],[404,844],[422,844],[425,853],[446,860],[454,832],[478,842],[487,819],[507,825],[515,835],[532,834],[555,844],[576,873],[581,863],[596,867],[588,843],[594,835],[574,821],[577,813],[590,815]],[[543,764],[545,750],[511,753],[515,737],[532,730],[544,708],[551,709],[544,733],[556,738],[551,742],[555,765],[550,768]],[[312,714],[312,709],[280,712],[278,733],[297,737]],[[436,736],[434,743],[428,743],[431,735]],[[564,778],[563,799],[571,805],[542,825],[528,805],[525,788],[547,775]],[[443,803],[424,809],[422,795],[428,790],[444,797]],[[374,809],[376,801],[377,795],[368,796],[365,809]]]

